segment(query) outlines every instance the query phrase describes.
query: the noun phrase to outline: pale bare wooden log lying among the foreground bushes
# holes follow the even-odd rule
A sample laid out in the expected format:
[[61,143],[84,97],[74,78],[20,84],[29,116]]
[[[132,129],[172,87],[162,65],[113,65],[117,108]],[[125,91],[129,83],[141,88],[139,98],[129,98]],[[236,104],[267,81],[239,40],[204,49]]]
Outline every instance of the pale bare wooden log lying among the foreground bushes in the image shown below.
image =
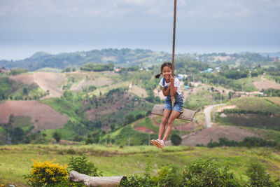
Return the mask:
[[113,187],[118,186],[122,180],[126,180],[126,176],[87,176],[86,174],[80,174],[76,171],[69,173],[69,180],[81,183],[85,186],[102,186]]

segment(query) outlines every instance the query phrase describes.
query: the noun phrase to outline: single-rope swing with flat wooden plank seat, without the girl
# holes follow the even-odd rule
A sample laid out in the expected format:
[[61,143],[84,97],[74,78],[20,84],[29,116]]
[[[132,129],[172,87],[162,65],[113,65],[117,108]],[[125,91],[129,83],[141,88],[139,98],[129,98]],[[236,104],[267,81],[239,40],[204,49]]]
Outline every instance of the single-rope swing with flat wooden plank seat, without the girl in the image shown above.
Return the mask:
[[[174,0],[174,21],[173,21],[173,45],[172,45],[172,75],[174,76],[174,52],[175,52],[175,33],[176,33],[176,4],[177,0]],[[172,108],[174,106],[175,99],[172,97]],[[163,116],[163,107],[165,104],[156,104],[153,106],[152,112],[155,115]],[[178,119],[193,121],[196,111],[189,109],[182,109]]]

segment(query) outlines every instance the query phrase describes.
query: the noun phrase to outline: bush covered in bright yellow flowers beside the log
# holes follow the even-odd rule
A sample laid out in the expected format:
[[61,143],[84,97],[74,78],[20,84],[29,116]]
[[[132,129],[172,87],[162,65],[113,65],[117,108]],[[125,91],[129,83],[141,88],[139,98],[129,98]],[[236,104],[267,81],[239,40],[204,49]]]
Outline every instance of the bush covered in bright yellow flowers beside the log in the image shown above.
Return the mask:
[[67,181],[67,165],[61,166],[54,161],[34,161],[31,174],[25,176],[29,186],[56,186]]

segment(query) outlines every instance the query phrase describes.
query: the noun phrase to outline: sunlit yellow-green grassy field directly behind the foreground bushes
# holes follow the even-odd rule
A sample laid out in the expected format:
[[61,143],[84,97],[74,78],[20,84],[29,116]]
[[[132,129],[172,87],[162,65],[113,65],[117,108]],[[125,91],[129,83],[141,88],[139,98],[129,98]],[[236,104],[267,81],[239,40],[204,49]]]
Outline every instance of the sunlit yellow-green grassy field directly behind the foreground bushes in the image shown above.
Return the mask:
[[[20,153],[20,156],[19,156]],[[275,179],[280,173],[279,151],[272,148],[200,148],[167,146],[164,151],[155,146],[61,146],[17,145],[0,146],[0,183],[25,186],[23,175],[31,172],[32,160],[55,160],[60,165],[68,164],[71,156],[87,155],[88,160],[102,170],[104,176],[143,174],[151,161],[152,174],[166,165],[178,165],[180,169],[197,158],[213,158],[218,164],[230,165],[237,177],[248,179],[245,171],[248,160],[258,158],[266,171]]]

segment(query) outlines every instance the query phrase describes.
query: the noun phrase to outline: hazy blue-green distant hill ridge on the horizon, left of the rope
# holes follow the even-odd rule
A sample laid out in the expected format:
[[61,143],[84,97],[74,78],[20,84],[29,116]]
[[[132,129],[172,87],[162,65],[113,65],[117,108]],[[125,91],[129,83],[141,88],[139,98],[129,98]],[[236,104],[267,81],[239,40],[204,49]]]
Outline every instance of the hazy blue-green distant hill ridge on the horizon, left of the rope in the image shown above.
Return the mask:
[[[167,60],[170,58],[168,53],[158,53],[152,50],[142,49],[103,49],[90,50],[75,53],[60,53],[58,55],[50,55],[48,53],[35,53],[25,60],[0,60],[0,67],[8,69],[22,68],[28,71],[35,71],[44,67],[51,67],[56,69],[64,69],[66,67],[81,67],[89,62],[108,64],[113,63],[118,66],[126,67],[139,66],[151,67],[151,62],[157,62],[158,59]],[[159,60],[158,60],[159,61]],[[159,63],[159,62],[158,62]]]

